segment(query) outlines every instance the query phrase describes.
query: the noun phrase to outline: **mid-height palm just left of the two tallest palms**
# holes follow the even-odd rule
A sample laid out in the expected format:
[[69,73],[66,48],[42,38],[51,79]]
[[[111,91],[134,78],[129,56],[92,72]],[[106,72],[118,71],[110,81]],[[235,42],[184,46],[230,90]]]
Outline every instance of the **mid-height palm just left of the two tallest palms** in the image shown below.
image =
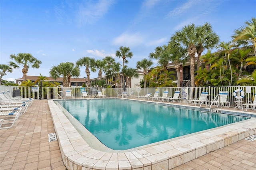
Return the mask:
[[157,59],[158,64],[164,67],[164,79],[167,79],[167,65],[170,62],[170,48],[167,45],[156,47],[154,52],[149,54],[151,59]]

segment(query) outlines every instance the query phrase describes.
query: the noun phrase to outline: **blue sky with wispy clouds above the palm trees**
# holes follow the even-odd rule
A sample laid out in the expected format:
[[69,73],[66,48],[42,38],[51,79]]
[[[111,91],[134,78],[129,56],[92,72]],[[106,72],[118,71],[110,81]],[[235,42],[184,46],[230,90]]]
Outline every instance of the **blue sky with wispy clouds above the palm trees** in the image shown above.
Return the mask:
[[[8,64],[11,54],[31,53],[42,64],[27,75],[49,76],[52,66],[82,57],[112,56],[122,64],[115,52],[126,46],[133,52],[127,65],[135,68],[188,24],[208,22],[227,42],[235,29],[256,17],[255,9],[255,0],[1,0],[0,63]],[[3,79],[21,78],[21,70]],[[86,77],[85,67],[80,77]],[[95,77],[98,72],[91,73]]]

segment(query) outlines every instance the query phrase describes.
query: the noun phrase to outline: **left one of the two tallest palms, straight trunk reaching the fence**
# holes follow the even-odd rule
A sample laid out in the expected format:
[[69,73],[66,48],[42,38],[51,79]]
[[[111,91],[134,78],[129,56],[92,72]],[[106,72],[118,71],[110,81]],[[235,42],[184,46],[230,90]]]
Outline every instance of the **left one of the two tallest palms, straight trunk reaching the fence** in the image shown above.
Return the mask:
[[191,87],[195,87],[195,54],[197,52],[196,45],[198,44],[196,31],[196,26],[189,24],[188,26],[184,26],[182,30],[176,31],[169,41],[171,48],[181,46],[188,53],[190,58]]

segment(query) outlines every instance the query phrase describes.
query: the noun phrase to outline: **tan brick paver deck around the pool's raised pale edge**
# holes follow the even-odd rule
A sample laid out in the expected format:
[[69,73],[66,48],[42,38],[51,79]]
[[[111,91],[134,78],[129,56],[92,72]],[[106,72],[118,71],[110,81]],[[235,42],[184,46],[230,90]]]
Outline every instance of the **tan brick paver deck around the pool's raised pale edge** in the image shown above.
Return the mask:
[[[0,130],[0,170],[66,170],[46,100],[36,100],[14,127]],[[256,170],[256,140],[240,140],[174,170]]]

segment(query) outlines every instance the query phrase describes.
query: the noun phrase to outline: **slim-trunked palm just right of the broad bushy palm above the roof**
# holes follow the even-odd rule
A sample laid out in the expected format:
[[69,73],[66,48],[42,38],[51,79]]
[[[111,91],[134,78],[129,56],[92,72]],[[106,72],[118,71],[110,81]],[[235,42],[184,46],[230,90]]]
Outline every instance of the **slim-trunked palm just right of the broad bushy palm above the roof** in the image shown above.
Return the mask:
[[90,69],[91,71],[95,72],[96,69],[94,68],[95,66],[95,59],[94,58],[90,58],[90,57],[82,57],[80,59],[78,59],[78,61],[76,61],[76,65],[78,65],[79,67],[85,66],[85,73],[87,75],[87,82],[86,85],[87,87],[90,87],[91,83],[90,83]]

